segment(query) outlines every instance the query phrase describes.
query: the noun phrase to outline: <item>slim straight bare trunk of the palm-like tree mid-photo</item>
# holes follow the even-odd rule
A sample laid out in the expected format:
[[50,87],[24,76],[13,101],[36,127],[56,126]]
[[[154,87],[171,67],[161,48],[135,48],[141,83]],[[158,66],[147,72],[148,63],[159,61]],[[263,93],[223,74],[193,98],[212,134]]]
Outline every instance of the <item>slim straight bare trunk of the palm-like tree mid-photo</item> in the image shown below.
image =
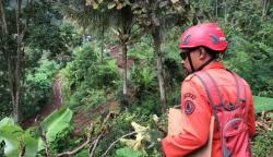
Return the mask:
[[127,96],[127,45],[122,44],[122,94]]

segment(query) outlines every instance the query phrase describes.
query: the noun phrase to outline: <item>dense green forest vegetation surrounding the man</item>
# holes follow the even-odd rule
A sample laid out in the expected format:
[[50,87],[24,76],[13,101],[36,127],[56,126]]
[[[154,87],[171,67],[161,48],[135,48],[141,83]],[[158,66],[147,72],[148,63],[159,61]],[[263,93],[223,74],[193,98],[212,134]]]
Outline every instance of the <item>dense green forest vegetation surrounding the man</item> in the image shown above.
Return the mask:
[[272,1],[16,2],[0,2],[0,156],[161,157],[186,76],[180,33],[206,21],[256,95],[254,156],[272,156]]

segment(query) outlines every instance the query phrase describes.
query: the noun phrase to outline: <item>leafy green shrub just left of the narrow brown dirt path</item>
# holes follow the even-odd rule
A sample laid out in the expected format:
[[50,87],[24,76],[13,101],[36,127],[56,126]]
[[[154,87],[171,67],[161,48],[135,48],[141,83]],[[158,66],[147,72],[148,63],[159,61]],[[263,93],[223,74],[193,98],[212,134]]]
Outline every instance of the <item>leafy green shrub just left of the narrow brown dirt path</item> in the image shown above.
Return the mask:
[[36,114],[50,102],[52,77],[58,69],[59,65],[44,55],[37,68],[26,71],[23,93],[24,118]]

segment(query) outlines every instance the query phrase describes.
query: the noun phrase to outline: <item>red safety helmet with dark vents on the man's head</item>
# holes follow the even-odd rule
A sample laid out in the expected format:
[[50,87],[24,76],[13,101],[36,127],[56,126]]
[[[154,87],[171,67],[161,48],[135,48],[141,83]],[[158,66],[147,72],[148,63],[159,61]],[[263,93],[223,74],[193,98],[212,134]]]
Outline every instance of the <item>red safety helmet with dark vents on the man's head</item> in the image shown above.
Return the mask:
[[199,46],[224,52],[227,48],[224,32],[216,23],[203,23],[191,26],[181,35],[179,48],[188,49]]

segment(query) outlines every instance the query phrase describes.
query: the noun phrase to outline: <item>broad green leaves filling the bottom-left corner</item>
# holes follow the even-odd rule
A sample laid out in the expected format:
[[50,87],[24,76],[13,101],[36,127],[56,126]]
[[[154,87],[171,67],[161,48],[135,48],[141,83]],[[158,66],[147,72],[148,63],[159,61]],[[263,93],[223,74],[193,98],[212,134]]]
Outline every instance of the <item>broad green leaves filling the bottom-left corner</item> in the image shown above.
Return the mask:
[[16,125],[11,118],[4,118],[0,121],[0,142],[2,141],[5,143],[4,155],[7,157],[19,156],[23,146],[25,146],[25,156],[36,156],[38,141],[32,137],[28,131]]

